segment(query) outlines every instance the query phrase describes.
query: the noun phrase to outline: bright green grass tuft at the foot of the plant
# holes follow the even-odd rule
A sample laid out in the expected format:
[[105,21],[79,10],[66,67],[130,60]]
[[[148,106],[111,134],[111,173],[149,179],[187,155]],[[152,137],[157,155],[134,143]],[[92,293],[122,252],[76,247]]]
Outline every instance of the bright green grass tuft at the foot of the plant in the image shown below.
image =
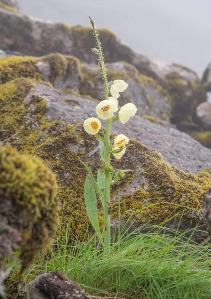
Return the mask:
[[147,233],[146,226],[119,233],[107,257],[96,235],[87,242],[71,239],[67,225],[65,235],[57,238],[44,261],[38,255],[31,271],[61,269],[88,294],[106,298],[211,298],[210,245],[206,240],[204,244],[191,241],[200,227],[184,233],[169,229],[163,234],[165,224],[148,225]]

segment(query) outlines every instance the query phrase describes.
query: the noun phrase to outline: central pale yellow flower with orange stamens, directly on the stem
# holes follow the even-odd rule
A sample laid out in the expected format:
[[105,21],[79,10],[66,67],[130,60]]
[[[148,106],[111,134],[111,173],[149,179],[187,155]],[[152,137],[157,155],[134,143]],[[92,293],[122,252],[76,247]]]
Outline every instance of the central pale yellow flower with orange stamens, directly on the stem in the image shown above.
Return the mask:
[[103,100],[99,102],[95,109],[97,116],[102,119],[111,118],[117,110],[117,104],[112,100]]

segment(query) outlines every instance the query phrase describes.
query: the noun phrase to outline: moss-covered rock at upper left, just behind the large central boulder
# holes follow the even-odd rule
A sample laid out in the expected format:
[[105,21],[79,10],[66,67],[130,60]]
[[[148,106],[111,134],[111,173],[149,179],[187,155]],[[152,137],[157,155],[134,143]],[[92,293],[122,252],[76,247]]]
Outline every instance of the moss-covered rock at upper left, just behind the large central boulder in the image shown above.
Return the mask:
[[57,88],[73,89],[78,92],[79,61],[73,56],[64,56],[58,53],[40,58],[10,57],[10,55],[9,58],[0,58],[1,83],[21,76],[42,79]]

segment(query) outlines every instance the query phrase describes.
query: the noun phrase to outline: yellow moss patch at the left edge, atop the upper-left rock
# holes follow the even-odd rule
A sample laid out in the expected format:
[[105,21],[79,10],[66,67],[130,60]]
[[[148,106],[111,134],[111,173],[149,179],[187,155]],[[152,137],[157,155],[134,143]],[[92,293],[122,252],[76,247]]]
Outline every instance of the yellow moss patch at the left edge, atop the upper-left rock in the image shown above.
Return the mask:
[[42,79],[36,70],[37,58],[12,56],[0,58],[0,84],[19,77]]

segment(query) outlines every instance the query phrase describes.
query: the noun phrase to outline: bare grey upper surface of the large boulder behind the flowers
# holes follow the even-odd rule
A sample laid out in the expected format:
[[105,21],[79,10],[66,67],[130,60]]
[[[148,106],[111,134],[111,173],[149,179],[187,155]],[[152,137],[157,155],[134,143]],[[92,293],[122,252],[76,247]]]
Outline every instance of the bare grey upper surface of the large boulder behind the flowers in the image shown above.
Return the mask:
[[[46,119],[49,121],[56,119],[76,125],[95,116],[97,103],[86,97],[81,98],[75,94],[65,95],[54,87],[42,84],[36,84],[36,88],[30,90],[24,103],[29,103],[32,96],[40,96],[46,100],[48,107]],[[102,127],[105,127],[105,121],[102,120],[101,123]],[[197,173],[205,167],[211,167],[211,150],[175,128],[152,123],[139,115],[134,115],[124,125],[112,124],[111,131],[117,134],[122,134],[124,131],[130,139],[155,149],[161,153],[166,162],[184,172]]]

